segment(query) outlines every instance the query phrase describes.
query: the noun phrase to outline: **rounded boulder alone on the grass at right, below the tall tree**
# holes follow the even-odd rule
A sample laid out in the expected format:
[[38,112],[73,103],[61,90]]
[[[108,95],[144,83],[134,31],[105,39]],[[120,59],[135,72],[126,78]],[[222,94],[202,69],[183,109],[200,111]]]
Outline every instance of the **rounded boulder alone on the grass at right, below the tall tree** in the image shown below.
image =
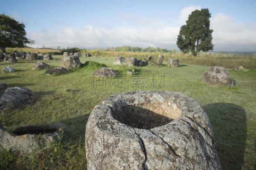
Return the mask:
[[229,72],[219,66],[206,70],[201,82],[212,87],[221,85],[233,87],[233,82],[230,79]]

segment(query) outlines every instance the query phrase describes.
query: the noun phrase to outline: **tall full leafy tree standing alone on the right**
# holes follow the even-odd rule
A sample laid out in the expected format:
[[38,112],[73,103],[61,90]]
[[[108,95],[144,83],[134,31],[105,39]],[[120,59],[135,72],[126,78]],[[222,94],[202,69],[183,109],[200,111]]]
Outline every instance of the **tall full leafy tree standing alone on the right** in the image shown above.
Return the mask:
[[213,50],[210,17],[208,8],[189,14],[187,24],[180,28],[177,41],[177,46],[183,53],[191,51],[196,56],[200,51]]

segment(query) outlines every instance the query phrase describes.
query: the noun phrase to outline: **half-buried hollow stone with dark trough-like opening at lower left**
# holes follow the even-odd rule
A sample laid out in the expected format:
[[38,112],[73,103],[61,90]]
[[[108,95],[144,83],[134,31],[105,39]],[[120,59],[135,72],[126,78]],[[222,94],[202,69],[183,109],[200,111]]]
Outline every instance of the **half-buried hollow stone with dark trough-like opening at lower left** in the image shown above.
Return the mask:
[[30,153],[39,147],[49,147],[67,136],[67,127],[60,122],[43,126],[28,125],[13,132],[7,131],[0,125],[0,146],[21,153]]

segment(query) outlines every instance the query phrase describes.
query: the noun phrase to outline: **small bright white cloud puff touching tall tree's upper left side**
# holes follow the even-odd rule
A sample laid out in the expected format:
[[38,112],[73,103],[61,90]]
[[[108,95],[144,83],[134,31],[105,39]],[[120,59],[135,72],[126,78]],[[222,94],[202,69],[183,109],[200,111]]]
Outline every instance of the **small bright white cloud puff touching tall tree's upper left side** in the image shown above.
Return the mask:
[[180,15],[178,17],[178,23],[180,24],[180,26],[186,25],[186,21],[188,20],[188,15],[195,10],[201,10],[201,6],[190,5],[180,10]]

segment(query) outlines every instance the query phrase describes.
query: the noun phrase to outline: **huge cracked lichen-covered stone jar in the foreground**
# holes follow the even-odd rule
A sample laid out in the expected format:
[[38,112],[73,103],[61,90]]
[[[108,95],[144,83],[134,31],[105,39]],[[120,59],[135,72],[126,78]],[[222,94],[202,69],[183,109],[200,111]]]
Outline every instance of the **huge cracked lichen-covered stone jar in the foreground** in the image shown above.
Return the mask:
[[86,124],[88,170],[221,169],[207,113],[178,92],[126,92],[96,105]]

